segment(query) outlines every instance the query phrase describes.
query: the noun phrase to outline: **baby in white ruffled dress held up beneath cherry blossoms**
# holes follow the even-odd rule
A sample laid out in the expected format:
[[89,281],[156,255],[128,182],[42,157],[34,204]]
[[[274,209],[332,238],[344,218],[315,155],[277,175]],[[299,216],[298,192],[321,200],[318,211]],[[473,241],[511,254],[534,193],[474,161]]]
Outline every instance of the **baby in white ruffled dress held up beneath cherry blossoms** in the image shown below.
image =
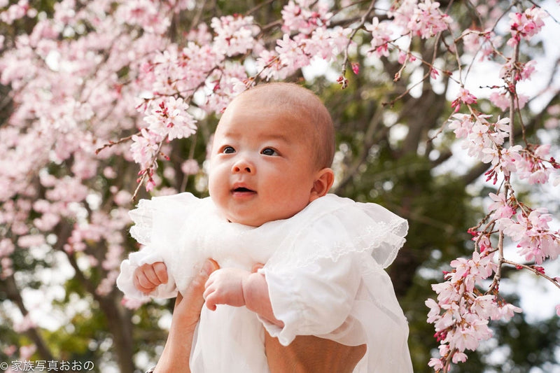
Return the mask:
[[[240,94],[218,123],[210,197],[142,200],[121,265],[129,297],[174,297],[207,258],[192,372],[269,372],[265,331],[287,346],[315,335],[367,350],[353,372],[412,372],[407,321],[384,267],[407,222],[328,194],[335,141],[328,110],[288,83]],[[218,305],[222,305],[219,306]]]

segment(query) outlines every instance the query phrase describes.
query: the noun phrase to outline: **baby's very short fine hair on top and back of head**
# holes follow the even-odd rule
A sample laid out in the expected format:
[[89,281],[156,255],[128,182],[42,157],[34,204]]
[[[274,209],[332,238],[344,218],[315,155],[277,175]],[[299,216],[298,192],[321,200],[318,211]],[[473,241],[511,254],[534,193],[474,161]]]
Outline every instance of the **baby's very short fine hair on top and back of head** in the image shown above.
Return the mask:
[[311,146],[314,147],[316,165],[330,167],[335,156],[335,128],[332,118],[323,101],[317,95],[295,83],[265,83],[255,85],[239,97],[257,97],[259,101],[269,102],[271,108],[286,109],[302,122],[309,122]]

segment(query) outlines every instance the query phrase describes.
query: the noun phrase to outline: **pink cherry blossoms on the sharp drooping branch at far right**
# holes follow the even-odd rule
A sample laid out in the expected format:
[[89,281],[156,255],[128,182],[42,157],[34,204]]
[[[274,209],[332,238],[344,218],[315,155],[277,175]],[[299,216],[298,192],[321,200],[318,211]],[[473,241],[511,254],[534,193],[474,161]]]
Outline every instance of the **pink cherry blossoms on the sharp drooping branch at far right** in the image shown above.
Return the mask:
[[[507,45],[517,45],[521,39],[529,40],[540,31],[545,17],[544,10],[537,7],[523,13],[510,13],[511,35]],[[498,50],[501,40],[493,38],[493,32],[492,29],[466,30],[461,41],[471,52],[482,50],[482,59],[503,56]],[[489,101],[502,111],[508,108],[519,111],[528,97],[517,92],[517,83],[529,80],[535,71],[534,61],[521,63],[517,55],[505,58],[498,75],[504,85],[493,87],[498,90],[492,91]],[[489,194],[492,202],[486,218],[469,231],[475,241],[472,258],[452,261],[453,269],[444,274],[446,281],[433,286],[437,301],[426,301],[430,309],[428,323],[433,323],[435,337],[440,342],[440,357],[432,358],[429,363],[436,372],[448,372],[451,363],[464,362],[467,359],[465,350],[474,351],[482,340],[490,338],[489,321],[507,321],[514,312],[521,311],[505,303],[498,293],[503,265],[528,269],[560,287],[557,279],[547,276],[540,266],[545,260],[559,257],[560,232],[549,227],[552,216],[547,209],[531,209],[519,202],[511,185],[514,177],[529,185],[551,180],[553,185],[558,185],[560,166],[550,154],[549,145],[533,145],[525,139],[525,146],[513,143],[514,118],[492,120],[492,115],[477,111],[478,101],[461,87],[451,103],[455,113],[451,115],[449,128],[463,140],[462,147],[470,157],[489,164],[486,181],[493,185],[500,181],[500,186],[498,192]],[[458,113],[461,108],[466,108],[468,113]],[[506,141],[509,141],[508,146]],[[498,239],[493,239],[495,236]],[[504,238],[517,246],[517,254],[528,264],[517,264],[506,258]],[[483,280],[490,278],[491,286],[482,290]]]

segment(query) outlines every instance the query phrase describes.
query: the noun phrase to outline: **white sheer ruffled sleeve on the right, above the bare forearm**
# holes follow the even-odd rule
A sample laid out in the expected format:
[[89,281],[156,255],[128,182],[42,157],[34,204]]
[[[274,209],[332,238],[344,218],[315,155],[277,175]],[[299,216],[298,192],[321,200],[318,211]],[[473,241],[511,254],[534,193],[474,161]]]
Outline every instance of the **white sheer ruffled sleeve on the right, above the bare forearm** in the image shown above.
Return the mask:
[[[377,204],[335,195],[316,199],[292,220],[294,234],[286,234],[260,270],[274,316],[284,326],[261,321],[283,345],[297,335],[335,333],[344,340],[355,328],[348,318],[364,271],[384,272],[393,262],[405,243],[407,221]],[[364,267],[366,261],[372,268]],[[354,339],[365,342],[365,334]]]

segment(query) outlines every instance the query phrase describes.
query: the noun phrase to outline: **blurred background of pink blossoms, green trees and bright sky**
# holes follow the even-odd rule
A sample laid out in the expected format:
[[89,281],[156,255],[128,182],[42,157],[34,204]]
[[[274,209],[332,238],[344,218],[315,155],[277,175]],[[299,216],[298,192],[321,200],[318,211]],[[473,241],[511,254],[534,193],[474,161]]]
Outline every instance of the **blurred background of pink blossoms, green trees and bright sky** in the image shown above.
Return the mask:
[[[400,4],[377,1],[368,10],[365,1],[331,3],[331,26],[342,27],[368,11],[368,20],[386,20],[387,10]],[[529,142],[557,150],[559,5],[534,3],[551,16],[542,36],[522,45],[521,58],[538,60],[539,73],[519,87],[528,96],[521,115]],[[472,161],[455,135],[442,131],[459,89],[444,73],[456,77],[457,61],[444,52],[462,29],[486,27],[483,17],[497,24],[496,33],[507,34],[500,17],[515,4],[442,1],[440,8],[454,19],[452,34],[410,44],[411,52],[437,66],[437,76],[426,78],[431,66],[419,60],[395,81],[402,67],[398,51],[372,56],[370,38],[358,33],[349,55],[359,72],[346,73],[346,89],[337,83],[342,54],[285,77],[317,92],[330,109],[337,129],[332,192],[376,202],[409,220],[407,243],[388,272],[409,320],[414,372],[432,371],[427,363],[437,356],[424,304],[435,298],[430,285],[443,281],[451,260],[472,255],[467,230],[485,216],[485,196],[495,191],[484,182],[488,164]],[[123,302],[114,285],[120,260],[139,248],[128,234],[127,216],[140,171],[131,139],[146,127],[137,108],[149,96],[148,83],[169,83],[146,78],[143,62],[165,60],[153,56],[174,46],[180,50],[193,40],[189,31],[212,17],[236,13],[251,14],[262,45],[274,48],[283,6],[285,1],[257,0],[0,1],[1,362],[92,362],[93,372],[132,373],[157,361],[173,301],[138,307]],[[457,45],[465,66],[480,57]],[[228,63],[252,76],[258,73],[254,53],[231,56]],[[495,117],[504,113],[489,103],[487,88],[503,84],[497,66],[489,61],[469,71],[479,107]],[[159,157],[155,188],[140,188],[138,198],[183,191],[207,196],[207,145],[219,113],[204,111],[197,97],[189,110],[197,132],[163,143],[160,151],[168,159]],[[96,153],[110,141],[115,144]],[[528,204],[560,216],[558,187],[516,185],[516,191]],[[514,248],[508,250],[514,255]],[[546,269],[560,273],[557,262]],[[494,337],[453,372],[560,372],[558,289],[514,269],[503,277],[502,295],[525,312],[493,323]]]

